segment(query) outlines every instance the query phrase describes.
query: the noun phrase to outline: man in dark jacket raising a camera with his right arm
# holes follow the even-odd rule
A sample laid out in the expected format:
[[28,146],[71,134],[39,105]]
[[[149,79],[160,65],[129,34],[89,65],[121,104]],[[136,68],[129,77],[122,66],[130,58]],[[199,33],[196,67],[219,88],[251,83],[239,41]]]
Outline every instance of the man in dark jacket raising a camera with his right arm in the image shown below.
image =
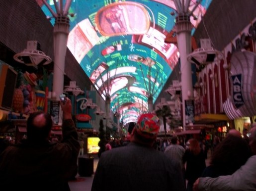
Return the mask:
[[27,140],[8,146],[0,155],[1,191],[69,191],[68,179],[74,172],[80,149],[72,120],[69,98],[63,110],[63,140],[49,141],[52,118],[44,112],[30,114]]

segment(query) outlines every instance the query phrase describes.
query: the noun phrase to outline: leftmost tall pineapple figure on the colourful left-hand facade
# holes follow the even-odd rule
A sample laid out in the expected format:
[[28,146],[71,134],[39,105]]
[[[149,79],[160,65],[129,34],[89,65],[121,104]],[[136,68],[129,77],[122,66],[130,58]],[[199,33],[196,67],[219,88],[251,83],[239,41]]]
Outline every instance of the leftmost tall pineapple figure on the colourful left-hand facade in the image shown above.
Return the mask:
[[14,90],[13,94],[13,100],[12,100],[12,109],[14,112],[21,113],[23,111],[23,102],[24,102],[24,96],[23,96],[23,73],[21,71],[17,71],[17,82],[16,82],[16,88]]

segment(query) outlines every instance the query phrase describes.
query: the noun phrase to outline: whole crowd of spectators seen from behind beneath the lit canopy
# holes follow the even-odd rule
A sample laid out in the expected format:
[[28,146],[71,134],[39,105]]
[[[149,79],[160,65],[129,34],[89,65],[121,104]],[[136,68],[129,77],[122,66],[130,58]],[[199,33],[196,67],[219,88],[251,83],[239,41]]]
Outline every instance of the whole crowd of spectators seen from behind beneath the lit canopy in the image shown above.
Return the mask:
[[[38,111],[27,119],[27,138],[2,144],[1,190],[70,191],[68,181],[77,175],[81,143],[72,119],[69,98],[60,102],[63,139],[51,141],[52,118]],[[159,118],[139,116],[121,142],[108,141],[100,155],[91,191],[255,191],[256,127],[243,135],[232,129],[214,150],[206,165],[209,145],[173,136],[164,149],[156,149]],[[181,141],[181,143],[180,143]],[[10,188],[11,185],[11,188]],[[39,186],[40,185],[40,186]]]

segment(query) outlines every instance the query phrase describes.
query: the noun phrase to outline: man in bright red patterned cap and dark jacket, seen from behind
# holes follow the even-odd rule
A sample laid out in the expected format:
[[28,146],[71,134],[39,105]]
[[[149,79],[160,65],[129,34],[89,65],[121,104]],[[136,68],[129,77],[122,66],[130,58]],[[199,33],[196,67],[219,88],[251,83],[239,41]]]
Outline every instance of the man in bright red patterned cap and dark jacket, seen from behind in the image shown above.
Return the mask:
[[179,163],[153,148],[159,128],[155,114],[139,116],[131,143],[101,154],[91,191],[185,191]]

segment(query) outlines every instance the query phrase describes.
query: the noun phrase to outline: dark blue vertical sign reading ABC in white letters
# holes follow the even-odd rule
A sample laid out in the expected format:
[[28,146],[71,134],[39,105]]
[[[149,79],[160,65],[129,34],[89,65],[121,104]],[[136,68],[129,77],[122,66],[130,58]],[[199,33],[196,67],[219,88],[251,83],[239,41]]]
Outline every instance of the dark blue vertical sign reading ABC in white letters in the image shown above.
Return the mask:
[[242,95],[242,74],[237,74],[231,76],[232,83],[232,99],[236,108],[241,107],[245,104],[243,95]]

